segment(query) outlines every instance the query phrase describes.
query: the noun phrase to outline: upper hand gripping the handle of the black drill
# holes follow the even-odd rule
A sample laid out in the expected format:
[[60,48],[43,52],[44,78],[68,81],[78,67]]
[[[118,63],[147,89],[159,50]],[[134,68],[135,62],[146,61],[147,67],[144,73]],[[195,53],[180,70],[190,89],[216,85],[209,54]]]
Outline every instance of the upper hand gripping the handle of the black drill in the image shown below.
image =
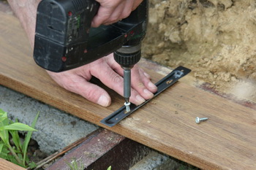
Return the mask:
[[96,0],[99,2],[99,10],[94,16],[91,26],[98,27],[101,24],[110,25],[118,20],[127,18],[143,0]]

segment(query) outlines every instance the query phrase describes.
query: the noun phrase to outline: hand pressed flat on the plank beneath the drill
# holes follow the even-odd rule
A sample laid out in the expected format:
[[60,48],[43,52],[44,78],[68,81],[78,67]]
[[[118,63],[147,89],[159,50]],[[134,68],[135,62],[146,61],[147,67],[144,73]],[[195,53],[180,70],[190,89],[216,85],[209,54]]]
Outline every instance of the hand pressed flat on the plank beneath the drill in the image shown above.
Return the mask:
[[[78,93],[89,101],[108,107],[111,104],[109,94],[97,85],[89,82],[91,77],[97,77],[103,84],[115,90],[118,94],[124,94],[123,69],[113,59],[113,54],[97,61],[71,69],[66,72],[49,72],[61,87]],[[157,87],[150,81],[150,77],[138,66],[132,68],[132,90],[130,101],[133,104],[142,104],[145,99],[152,98]]]

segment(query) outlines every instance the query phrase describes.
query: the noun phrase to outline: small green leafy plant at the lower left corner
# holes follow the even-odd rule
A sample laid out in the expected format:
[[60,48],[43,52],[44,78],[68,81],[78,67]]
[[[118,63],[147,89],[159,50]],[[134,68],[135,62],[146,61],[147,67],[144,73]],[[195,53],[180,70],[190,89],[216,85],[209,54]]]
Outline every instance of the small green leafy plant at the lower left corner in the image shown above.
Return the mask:
[[[37,123],[38,116],[39,112],[34,118],[32,125],[29,126],[18,123],[18,120],[15,120],[15,123],[12,122],[7,117],[7,112],[0,109],[0,158],[4,158],[23,168],[34,168],[36,166],[35,163],[29,161],[27,150],[32,132],[37,131],[34,129],[34,126]],[[23,142],[21,142],[18,131],[28,131]],[[10,140],[12,140],[14,146],[10,144]]]

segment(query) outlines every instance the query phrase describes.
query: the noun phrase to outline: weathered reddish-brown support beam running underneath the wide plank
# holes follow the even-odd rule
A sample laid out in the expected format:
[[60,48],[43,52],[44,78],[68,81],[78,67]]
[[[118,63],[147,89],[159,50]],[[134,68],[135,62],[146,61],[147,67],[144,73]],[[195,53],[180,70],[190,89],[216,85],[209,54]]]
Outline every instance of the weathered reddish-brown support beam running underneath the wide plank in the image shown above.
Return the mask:
[[134,166],[150,151],[143,144],[99,128],[78,147],[53,163],[48,170],[68,170],[68,163],[74,160],[85,169],[108,169],[112,166],[113,170],[124,170]]

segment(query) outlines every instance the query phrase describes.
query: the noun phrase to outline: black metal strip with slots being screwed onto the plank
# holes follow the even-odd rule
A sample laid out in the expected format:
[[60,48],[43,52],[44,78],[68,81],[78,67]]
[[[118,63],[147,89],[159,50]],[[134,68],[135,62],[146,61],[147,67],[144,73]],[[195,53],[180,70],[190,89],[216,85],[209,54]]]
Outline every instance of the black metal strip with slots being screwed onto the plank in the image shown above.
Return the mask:
[[[185,75],[189,74],[191,72],[190,69],[187,69],[184,66],[178,66],[176,69],[173,70],[173,72],[170,72],[170,74],[167,74],[162,80],[159,80],[155,85],[157,85],[157,92],[154,93],[154,97],[159,95],[163,90],[169,88],[171,85],[173,85],[175,82],[177,82],[181,77],[184,77]],[[154,98],[153,97],[153,98]],[[151,98],[152,99],[152,98]],[[132,112],[135,112],[135,110],[142,107],[144,104],[148,103],[148,101],[151,101],[151,99],[146,100],[143,104],[140,104],[139,106],[136,106],[135,104],[130,105],[130,111],[126,111],[126,107],[123,106],[120,109],[116,110],[116,112],[113,112],[108,117],[105,117],[100,122],[104,125],[108,125],[109,127],[113,127],[113,125],[116,125],[118,122],[123,120],[128,115],[131,115]]]

